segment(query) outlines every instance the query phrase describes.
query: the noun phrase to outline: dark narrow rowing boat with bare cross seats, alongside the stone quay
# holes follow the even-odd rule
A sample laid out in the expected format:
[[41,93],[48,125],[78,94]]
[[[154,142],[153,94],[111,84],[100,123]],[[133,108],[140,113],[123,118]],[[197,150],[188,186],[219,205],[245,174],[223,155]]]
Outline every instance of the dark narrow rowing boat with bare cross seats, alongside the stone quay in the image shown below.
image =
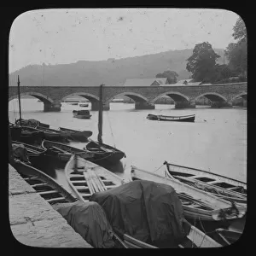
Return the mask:
[[26,183],[29,183],[37,191],[38,195],[42,196],[50,205],[77,201],[73,195],[44,172],[21,161],[15,162],[14,167]]

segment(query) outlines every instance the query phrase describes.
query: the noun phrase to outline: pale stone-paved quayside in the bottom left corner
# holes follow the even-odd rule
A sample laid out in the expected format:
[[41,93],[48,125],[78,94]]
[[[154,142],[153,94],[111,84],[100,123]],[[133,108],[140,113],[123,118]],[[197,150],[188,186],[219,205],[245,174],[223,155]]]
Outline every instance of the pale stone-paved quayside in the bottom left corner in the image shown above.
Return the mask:
[[15,239],[27,246],[91,247],[10,165],[9,222]]

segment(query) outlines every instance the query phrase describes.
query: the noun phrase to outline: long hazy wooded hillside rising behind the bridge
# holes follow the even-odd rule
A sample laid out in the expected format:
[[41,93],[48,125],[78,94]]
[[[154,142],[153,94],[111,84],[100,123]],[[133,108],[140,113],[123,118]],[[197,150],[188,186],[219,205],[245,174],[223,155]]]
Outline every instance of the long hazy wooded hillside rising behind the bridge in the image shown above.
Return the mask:
[[[224,49],[214,49],[223,63]],[[170,50],[153,55],[129,57],[108,61],[78,61],[59,65],[32,65],[9,75],[9,85],[15,86],[18,74],[20,86],[97,86],[121,85],[125,79],[154,78],[157,73],[172,70],[178,80],[189,79],[186,59],[193,49]]]

